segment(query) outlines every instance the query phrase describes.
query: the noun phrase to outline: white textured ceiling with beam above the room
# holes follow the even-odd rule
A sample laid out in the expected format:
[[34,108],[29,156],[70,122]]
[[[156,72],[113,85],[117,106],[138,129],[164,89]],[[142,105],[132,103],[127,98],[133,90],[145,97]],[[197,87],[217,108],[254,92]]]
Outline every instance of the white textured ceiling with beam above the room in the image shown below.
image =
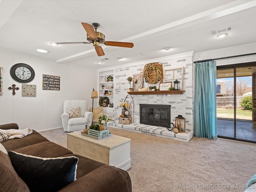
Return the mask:
[[[255,12],[251,0],[0,0],[0,49],[102,68],[254,43]],[[98,57],[92,44],[49,44],[87,42],[81,22],[98,22],[106,41],[134,47],[102,46],[105,55]],[[234,28],[226,38],[210,33],[228,26]]]

